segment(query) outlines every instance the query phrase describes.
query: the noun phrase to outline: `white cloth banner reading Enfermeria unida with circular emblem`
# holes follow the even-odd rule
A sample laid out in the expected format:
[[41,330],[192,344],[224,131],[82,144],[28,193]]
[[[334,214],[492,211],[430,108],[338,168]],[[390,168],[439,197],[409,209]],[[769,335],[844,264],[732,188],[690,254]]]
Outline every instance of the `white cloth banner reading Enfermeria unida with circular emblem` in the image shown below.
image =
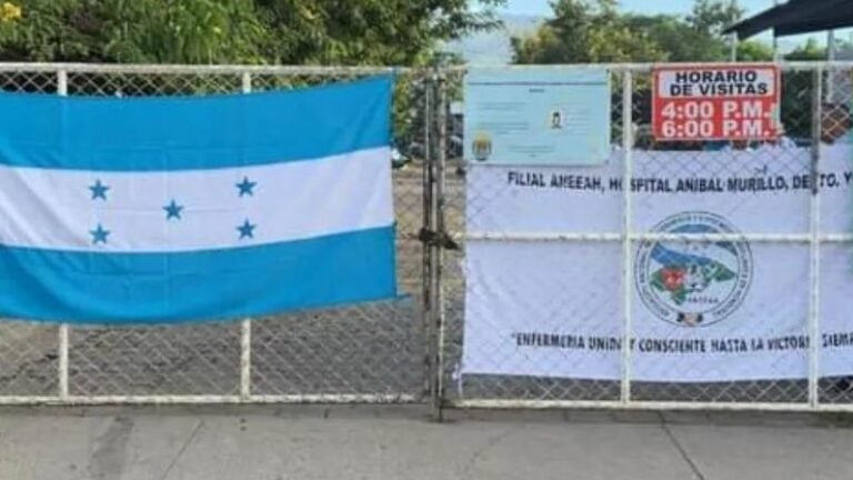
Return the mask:
[[[634,154],[635,233],[811,233],[809,150]],[[820,234],[850,232],[850,147],[821,160]],[[471,237],[621,233],[623,153],[605,168],[472,166]],[[638,241],[630,298],[623,243],[470,240],[463,373],[618,380],[625,300],[632,379],[803,379],[813,289],[809,241]],[[853,256],[820,257],[820,374],[853,373]]]

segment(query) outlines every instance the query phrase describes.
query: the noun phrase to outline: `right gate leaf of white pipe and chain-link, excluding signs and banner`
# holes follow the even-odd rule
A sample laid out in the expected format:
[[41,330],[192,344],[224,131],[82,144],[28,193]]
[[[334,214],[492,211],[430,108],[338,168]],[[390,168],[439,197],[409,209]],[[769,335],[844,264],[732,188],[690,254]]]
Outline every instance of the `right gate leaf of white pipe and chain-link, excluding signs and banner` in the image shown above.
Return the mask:
[[[811,144],[811,161],[797,160],[792,153],[779,149],[774,162],[779,162],[786,172],[805,176],[812,184],[821,179],[821,139],[831,123],[850,128],[851,104],[851,63],[780,63],[782,71],[783,102],[781,120],[790,136],[801,137],[802,144]],[[565,68],[553,66],[554,68]],[[573,69],[600,68],[601,66],[576,66]],[[636,151],[649,150],[645,156],[651,161],[645,163],[645,172],[655,167],[662,169],[664,158],[649,142],[649,133],[643,129],[651,123],[651,73],[656,66],[613,64],[605,66],[612,81],[612,139],[615,149],[621,151],[620,161],[624,162],[623,184],[630,184],[634,169]],[[683,67],[683,66],[682,66]],[[514,67],[524,69],[526,67]],[[461,92],[464,69],[448,71],[446,83],[450,92]],[[456,93],[458,94],[458,93]],[[459,97],[455,100],[461,101]],[[453,126],[445,122],[448,136],[455,134]],[[678,146],[675,146],[678,148]],[[455,153],[455,154],[454,154]],[[660,158],[655,157],[659,156]],[[680,157],[678,168],[696,177],[717,173],[719,168],[702,164],[691,158],[690,150]],[[669,159],[669,158],[668,158]],[[812,189],[809,206],[804,209],[807,228],[795,233],[774,233],[769,231],[747,231],[729,237],[698,237],[688,234],[661,234],[641,231],[635,227],[634,212],[638,197],[631,188],[624,189],[621,206],[621,231],[581,232],[564,231],[559,234],[518,234],[513,232],[469,231],[466,219],[475,218],[478,208],[509,194],[505,189],[470,191],[472,186],[464,180],[465,163],[458,152],[445,151],[438,159],[439,170],[443,173],[436,192],[442,201],[438,204],[439,224],[443,232],[458,244],[441,252],[441,293],[440,314],[436,318],[439,329],[440,357],[438,360],[441,377],[439,392],[441,404],[456,408],[608,408],[608,409],[725,409],[725,410],[784,410],[784,411],[850,411],[853,410],[853,392],[844,379],[824,379],[819,374],[821,364],[820,322],[821,312],[833,301],[837,306],[837,291],[822,291],[822,269],[832,259],[837,259],[840,250],[850,250],[853,237],[846,232],[822,233],[822,191]],[[672,168],[672,166],[669,166]],[[734,153],[726,168],[736,170]],[[740,202],[733,201],[725,208],[739,209]],[[774,212],[769,211],[767,214]],[[717,236],[719,237],[719,236]],[[809,278],[809,291],[803,291],[803,301],[807,306],[800,314],[809,336],[807,379],[780,381],[731,381],[706,383],[642,382],[633,379],[633,352],[628,346],[634,339],[633,276],[634,251],[643,241],[746,241],[754,244],[770,246],[791,251],[803,263],[803,276]],[[565,256],[588,254],[585,246],[609,246],[605,250],[618,258],[621,280],[616,284],[602,283],[601,289],[608,294],[594,298],[580,298],[566,294],[554,299],[554,311],[578,318],[592,318],[596,310],[611,309],[622,319],[618,331],[611,332],[621,341],[621,379],[612,381],[575,380],[564,378],[539,378],[523,376],[468,374],[461,371],[460,362],[463,350],[463,324],[465,322],[465,294],[476,297],[485,294],[466,289],[464,271],[465,243],[468,241],[486,242],[548,242],[560,246]],[[558,251],[558,249],[554,249]],[[833,253],[834,252],[834,253]],[[835,257],[830,257],[830,253]],[[852,267],[853,268],[853,267]],[[518,282],[529,281],[518,278]],[[531,280],[532,281],[532,280]],[[595,274],[589,281],[601,281]],[[523,301],[523,299],[518,299]],[[618,306],[614,308],[613,306]],[[773,308],[767,306],[767,308]],[[836,308],[836,307],[832,307]],[[610,310],[608,310],[610,311]],[[495,326],[496,328],[496,326]],[[853,329],[851,329],[853,330]],[[483,352],[490,354],[490,352]],[[500,362],[501,358],[496,358]],[[772,368],[772,366],[770,366]],[[701,369],[703,366],[684,366]],[[840,388],[840,386],[842,388]]]

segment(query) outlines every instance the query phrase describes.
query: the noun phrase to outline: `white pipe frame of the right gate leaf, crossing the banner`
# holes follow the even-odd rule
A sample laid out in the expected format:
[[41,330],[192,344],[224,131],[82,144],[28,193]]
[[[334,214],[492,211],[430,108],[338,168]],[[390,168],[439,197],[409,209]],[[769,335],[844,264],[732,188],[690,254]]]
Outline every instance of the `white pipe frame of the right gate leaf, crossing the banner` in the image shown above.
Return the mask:
[[[810,246],[810,260],[809,260],[809,314],[806,331],[810,338],[809,350],[809,377],[807,377],[807,401],[805,402],[713,402],[713,401],[634,401],[631,399],[631,349],[629,348],[630,339],[633,331],[633,314],[632,314],[632,301],[633,301],[633,251],[632,246],[636,241],[643,240],[670,240],[670,241],[684,241],[679,236],[661,234],[661,233],[638,233],[632,229],[632,198],[633,194],[630,188],[625,188],[623,198],[623,232],[616,234],[470,234],[466,230],[461,233],[454,233],[449,231],[442,231],[442,234],[450,236],[453,240],[464,244],[465,240],[520,240],[520,241],[565,241],[565,242],[621,242],[623,246],[623,279],[622,279],[622,306],[623,312],[623,333],[622,333],[622,376],[620,379],[620,399],[619,400],[540,400],[540,399],[489,399],[489,398],[450,398],[442,394],[442,398],[438,401],[439,411],[444,408],[455,409],[604,409],[604,410],[702,410],[702,411],[785,411],[785,412],[853,412],[853,403],[821,403],[820,390],[819,390],[819,361],[820,352],[819,342],[812,339],[820,337],[820,249],[823,243],[853,243],[853,233],[851,234],[821,234],[820,233],[820,208],[821,208],[821,192],[815,181],[819,176],[820,163],[820,148],[821,148],[821,133],[823,123],[823,82],[824,73],[833,72],[836,70],[853,70],[853,61],[805,61],[805,62],[765,62],[772,63],[779,67],[780,74],[785,72],[802,72],[811,71],[812,74],[812,146],[811,146],[811,181],[813,184],[812,196],[809,207],[810,214],[810,232],[805,234],[736,234],[736,236],[720,236],[721,239],[730,239],[724,237],[736,237],[740,240],[755,241],[755,242],[769,242],[769,243],[807,243]],[[623,184],[630,184],[632,170],[633,170],[633,89],[634,73],[652,73],[654,68],[658,67],[709,67],[709,66],[736,66],[737,62],[712,62],[712,63],[601,63],[601,64],[531,64],[531,66],[509,66],[492,68],[492,70],[525,70],[525,69],[542,69],[553,68],[561,70],[589,70],[589,69],[605,69],[611,74],[621,73],[622,78],[622,152],[623,161],[625,164],[623,174]],[[471,67],[471,68],[476,68]],[[469,67],[458,67],[450,69],[459,74],[468,72]],[[780,81],[781,88],[781,81]],[[781,108],[781,106],[780,106]],[[446,134],[446,126],[439,129],[440,134]],[[443,161],[443,160],[440,160]],[[464,162],[464,160],[463,160]],[[464,162],[466,164],[466,162]],[[439,210],[439,214],[443,216],[443,210]],[[466,224],[466,222],[465,222]],[[704,236],[703,238],[709,239]],[[443,258],[440,258],[440,262],[443,262]],[[441,288],[445,288],[444,284]],[[441,309],[443,304],[439,306]],[[463,320],[464,322],[464,316]],[[439,347],[442,351],[446,348],[442,341]],[[445,376],[446,372],[443,369],[439,370],[440,376]],[[490,376],[501,377],[501,376]],[[440,381],[440,379],[438,380]],[[444,393],[442,391],[442,393]]]

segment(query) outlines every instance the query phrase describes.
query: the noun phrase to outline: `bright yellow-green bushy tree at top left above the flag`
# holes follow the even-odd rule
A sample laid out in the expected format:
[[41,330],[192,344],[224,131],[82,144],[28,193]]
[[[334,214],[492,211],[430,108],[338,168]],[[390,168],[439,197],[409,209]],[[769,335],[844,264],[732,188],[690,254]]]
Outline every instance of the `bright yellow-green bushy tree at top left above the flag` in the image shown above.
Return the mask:
[[27,0],[0,34],[14,61],[258,62],[250,0]]

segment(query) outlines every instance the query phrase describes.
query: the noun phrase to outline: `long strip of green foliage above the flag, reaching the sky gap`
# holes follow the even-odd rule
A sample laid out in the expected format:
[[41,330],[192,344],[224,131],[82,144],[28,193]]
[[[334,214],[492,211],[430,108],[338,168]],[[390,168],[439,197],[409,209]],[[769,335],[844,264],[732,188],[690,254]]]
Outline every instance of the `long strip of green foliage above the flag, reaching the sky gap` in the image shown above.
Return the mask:
[[[505,0],[16,0],[0,59],[424,64]],[[6,17],[3,17],[4,19]]]

